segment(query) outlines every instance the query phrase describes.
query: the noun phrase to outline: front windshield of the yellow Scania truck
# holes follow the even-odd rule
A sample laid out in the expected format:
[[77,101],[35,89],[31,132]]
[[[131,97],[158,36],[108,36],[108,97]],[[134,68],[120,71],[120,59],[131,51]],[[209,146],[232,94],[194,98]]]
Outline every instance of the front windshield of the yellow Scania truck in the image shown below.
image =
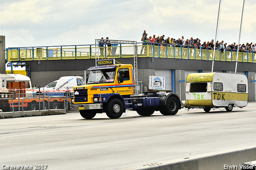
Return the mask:
[[91,70],[88,84],[114,82],[116,69]]

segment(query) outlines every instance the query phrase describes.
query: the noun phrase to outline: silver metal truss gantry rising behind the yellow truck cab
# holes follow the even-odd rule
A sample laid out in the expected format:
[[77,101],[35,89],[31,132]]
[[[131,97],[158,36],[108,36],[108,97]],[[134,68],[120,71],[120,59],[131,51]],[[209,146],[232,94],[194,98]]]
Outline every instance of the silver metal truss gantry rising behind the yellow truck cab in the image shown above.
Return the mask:
[[[97,61],[99,60],[99,43],[101,41],[106,42],[106,40],[95,39],[95,65],[97,66]],[[124,40],[108,40],[108,42],[113,44],[133,44],[134,48],[134,83],[138,83],[138,67],[137,67],[137,42],[136,41],[124,41]]]

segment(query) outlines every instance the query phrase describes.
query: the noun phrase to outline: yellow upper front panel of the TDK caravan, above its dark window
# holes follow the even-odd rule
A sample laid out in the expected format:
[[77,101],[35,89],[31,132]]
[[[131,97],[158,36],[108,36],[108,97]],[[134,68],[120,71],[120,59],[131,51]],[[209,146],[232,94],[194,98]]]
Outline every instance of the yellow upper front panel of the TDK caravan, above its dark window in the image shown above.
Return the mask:
[[186,82],[209,82],[215,73],[190,73],[186,78]]

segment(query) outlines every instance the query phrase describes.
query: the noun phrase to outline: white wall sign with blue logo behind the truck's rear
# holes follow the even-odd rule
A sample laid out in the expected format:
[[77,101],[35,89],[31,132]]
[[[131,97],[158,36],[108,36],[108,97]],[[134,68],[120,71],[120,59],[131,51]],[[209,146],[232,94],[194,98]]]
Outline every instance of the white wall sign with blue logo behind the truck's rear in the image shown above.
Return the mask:
[[165,90],[166,77],[149,76],[149,89],[153,90]]

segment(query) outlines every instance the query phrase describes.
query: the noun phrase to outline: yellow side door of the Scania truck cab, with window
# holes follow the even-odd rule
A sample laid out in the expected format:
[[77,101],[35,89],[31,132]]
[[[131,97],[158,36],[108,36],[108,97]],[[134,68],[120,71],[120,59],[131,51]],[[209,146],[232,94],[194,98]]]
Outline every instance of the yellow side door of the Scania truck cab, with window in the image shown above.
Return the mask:
[[[120,82],[120,74],[123,75],[123,82]],[[132,95],[134,86],[132,85],[132,71],[130,68],[120,68],[117,73],[116,93],[120,95]]]

